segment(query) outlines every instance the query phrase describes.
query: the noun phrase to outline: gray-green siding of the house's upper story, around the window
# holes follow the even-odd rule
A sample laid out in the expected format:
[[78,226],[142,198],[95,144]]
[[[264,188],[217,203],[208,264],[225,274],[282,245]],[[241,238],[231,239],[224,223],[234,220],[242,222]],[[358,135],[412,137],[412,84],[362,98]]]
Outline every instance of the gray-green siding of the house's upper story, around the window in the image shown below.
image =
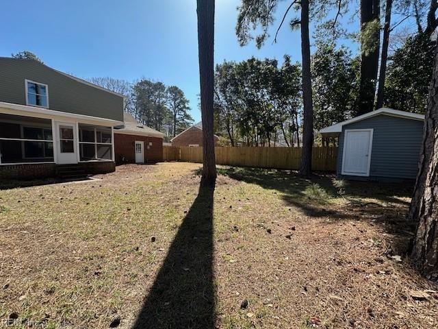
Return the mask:
[[26,105],[25,79],[49,86],[50,110],[123,121],[123,97],[78,82],[34,60],[0,58],[0,101]]

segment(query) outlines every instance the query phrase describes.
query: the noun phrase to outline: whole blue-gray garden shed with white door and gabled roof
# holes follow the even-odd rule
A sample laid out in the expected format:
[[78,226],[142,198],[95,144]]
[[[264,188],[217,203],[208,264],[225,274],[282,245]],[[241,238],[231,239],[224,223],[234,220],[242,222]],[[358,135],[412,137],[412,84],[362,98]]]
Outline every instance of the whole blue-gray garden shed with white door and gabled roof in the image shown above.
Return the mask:
[[415,180],[424,115],[381,108],[320,130],[339,137],[337,175],[355,180]]

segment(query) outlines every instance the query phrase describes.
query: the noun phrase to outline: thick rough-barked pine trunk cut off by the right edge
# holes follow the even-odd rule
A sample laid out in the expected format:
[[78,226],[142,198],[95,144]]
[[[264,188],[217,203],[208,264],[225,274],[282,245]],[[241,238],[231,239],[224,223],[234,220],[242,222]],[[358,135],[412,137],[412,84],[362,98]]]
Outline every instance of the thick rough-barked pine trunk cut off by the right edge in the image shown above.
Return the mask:
[[411,252],[413,265],[425,276],[438,280],[438,52],[430,83],[424,137],[415,191],[409,210],[417,220]]

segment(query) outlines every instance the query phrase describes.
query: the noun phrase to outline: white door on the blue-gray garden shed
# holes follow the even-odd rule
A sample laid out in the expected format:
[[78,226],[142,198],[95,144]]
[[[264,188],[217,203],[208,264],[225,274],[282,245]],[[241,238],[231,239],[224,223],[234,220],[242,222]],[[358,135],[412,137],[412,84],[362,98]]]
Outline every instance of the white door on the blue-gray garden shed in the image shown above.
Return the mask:
[[372,129],[355,129],[344,132],[343,175],[370,175],[372,134]]

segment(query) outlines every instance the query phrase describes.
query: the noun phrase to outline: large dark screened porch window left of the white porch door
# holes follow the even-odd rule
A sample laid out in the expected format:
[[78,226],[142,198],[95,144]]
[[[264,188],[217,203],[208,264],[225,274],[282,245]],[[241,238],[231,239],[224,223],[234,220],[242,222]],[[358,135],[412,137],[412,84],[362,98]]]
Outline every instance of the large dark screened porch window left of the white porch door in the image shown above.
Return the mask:
[[51,120],[0,114],[0,163],[53,162]]

